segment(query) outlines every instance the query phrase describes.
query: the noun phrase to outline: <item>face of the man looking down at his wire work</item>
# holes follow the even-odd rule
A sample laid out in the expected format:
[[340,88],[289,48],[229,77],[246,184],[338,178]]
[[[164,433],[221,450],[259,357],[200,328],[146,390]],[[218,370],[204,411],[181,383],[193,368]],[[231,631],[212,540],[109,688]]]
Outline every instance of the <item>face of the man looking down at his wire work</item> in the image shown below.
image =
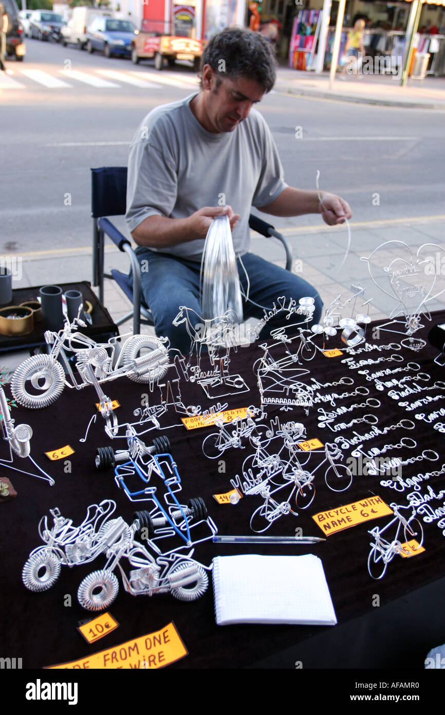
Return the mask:
[[[217,87],[218,78],[221,83]],[[206,129],[214,133],[233,132],[264,95],[264,89],[253,79],[221,77],[209,65],[203,68],[203,84],[207,89],[204,93]]]

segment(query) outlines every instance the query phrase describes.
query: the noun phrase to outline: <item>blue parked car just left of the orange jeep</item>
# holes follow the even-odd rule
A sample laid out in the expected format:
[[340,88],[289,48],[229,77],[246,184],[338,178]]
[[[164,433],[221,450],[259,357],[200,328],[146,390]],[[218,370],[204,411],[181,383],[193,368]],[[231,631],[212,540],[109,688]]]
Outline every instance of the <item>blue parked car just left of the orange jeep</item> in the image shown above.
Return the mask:
[[106,57],[131,56],[136,28],[129,20],[96,17],[86,32],[86,49],[103,51]]

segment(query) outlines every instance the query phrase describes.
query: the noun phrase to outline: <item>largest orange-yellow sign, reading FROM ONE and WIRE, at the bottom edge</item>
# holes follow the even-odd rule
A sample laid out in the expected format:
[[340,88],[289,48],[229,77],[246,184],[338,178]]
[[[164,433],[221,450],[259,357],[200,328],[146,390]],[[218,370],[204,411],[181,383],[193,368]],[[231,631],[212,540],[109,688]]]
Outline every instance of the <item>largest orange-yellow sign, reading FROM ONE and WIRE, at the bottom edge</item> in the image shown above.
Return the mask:
[[179,661],[187,655],[186,646],[181,641],[174,623],[154,633],[147,633],[133,641],[126,641],[119,646],[109,648],[100,653],[94,653],[79,661],[70,661],[57,666],[49,666],[48,670],[61,669],[157,669]]

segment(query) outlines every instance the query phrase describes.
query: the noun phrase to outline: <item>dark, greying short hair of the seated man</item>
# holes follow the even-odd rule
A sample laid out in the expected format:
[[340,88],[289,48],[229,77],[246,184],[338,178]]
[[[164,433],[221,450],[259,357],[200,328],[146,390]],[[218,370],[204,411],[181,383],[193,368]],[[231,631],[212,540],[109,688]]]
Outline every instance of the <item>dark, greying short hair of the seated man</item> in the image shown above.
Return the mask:
[[[270,92],[275,84],[274,51],[271,44],[259,32],[241,27],[226,27],[214,35],[201,56],[199,69],[201,89],[204,64],[209,64],[221,79],[222,77],[254,79],[264,92]],[[216,87],[221,84],[220,77],[217,77]]]

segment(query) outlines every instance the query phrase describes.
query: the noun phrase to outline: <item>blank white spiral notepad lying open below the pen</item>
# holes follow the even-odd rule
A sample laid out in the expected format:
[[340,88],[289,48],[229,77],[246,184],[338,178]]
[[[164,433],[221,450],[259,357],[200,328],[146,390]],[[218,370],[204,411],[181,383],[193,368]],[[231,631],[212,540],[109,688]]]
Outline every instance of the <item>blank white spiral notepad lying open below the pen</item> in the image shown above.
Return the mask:
[[213,560],[216,623],[335,626],[331,594],[318,556],[217,556]]

